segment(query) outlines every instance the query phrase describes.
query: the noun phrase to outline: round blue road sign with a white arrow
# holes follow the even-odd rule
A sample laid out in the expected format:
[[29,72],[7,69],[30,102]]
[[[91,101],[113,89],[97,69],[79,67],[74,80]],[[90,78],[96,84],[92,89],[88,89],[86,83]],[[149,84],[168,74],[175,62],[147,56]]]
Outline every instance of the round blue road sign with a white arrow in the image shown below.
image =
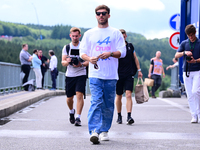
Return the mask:
[[172,29],[179,31],[180,30],[180,14],[173,15],[169,20],[169,25]]

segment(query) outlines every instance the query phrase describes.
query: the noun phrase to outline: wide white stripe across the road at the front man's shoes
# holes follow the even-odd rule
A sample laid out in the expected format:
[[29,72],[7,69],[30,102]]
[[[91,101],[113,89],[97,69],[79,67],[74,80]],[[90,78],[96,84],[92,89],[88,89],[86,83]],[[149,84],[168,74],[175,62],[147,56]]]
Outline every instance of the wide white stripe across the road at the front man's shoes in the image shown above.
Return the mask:
[[[120,135],[120,136],[119,136]],[[0,130],[0,138],[89,138],[88,132],[52,131],[52,130]],[[175,139],[199,140],[198,133],[167,133],[167,132],[109,132],[112,139]]]

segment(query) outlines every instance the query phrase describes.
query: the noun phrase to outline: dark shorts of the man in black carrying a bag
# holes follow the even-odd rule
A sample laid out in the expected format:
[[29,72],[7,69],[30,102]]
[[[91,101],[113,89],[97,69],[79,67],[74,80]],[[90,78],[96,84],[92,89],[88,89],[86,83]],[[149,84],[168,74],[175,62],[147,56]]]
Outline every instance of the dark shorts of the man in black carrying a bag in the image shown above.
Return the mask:
[[133,92],[133,83],[134,83],[134,78],[132,76],[119,78],[116,86],[117,95],[122,95],[126,90]]

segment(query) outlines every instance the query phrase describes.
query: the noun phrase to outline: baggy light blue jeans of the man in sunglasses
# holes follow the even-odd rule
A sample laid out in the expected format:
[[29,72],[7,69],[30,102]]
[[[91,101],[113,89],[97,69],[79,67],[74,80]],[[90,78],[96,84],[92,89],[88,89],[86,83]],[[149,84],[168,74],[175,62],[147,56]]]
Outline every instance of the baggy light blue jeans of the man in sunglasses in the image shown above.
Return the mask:
[[91,106],[88,112],[89,133],[108,132],[111,127],[117,80],[90,78]]

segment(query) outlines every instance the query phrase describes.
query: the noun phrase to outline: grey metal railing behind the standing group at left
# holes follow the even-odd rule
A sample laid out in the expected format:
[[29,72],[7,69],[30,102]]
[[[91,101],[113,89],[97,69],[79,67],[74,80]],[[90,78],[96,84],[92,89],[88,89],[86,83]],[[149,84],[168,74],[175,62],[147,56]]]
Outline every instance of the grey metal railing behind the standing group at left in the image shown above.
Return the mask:
[[[22,90],[20,79],[21,65],[0,62],[0,94],[13,93]],[[35,79],[35,73],[31,68],[29,78]],[[65,89],[65,73],[59,72],[56,79],[57,89]],[[50,70],[45,73],[44,88],[52,87]]]

